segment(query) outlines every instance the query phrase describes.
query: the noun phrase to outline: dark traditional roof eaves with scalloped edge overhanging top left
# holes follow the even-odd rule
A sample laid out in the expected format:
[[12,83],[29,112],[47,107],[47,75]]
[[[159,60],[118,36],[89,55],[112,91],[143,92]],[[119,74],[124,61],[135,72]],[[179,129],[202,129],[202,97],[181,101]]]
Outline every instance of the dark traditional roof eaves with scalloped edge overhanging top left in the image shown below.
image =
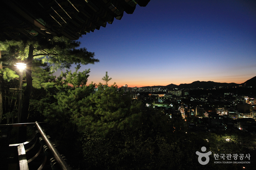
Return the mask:
[[5,0],[0,3],[0,40],[62,35],[77,40],[149,1]]

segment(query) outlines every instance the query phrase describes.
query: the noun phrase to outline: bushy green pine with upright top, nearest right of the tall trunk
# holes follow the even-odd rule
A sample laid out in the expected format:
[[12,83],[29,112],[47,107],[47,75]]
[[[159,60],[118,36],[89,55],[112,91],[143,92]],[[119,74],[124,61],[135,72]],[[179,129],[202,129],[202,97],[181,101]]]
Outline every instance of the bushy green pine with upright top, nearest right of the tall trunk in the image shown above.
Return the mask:
[[[82,73],[82,77],[89,76],[87,75],[89,70]],[[53,134],[60,138],[73,135],[75,117],[81,116],[81,108],[88,107],[89,109],[91,107],[91,102],[87,97],[94,92],[95,84],[91,83],[86,86],[87,78],[82,80],[80,76],[77,74],[77,70],[74,73],[68,71],[62,73],[56,80],[56,88],[59,90],[55,96],[56,102],[49,105],[44,111],[49,126],[57,127]],[[82,86],[77,88],[77,85]],[[59,130],[62,131],[61,134],[59,134]]]

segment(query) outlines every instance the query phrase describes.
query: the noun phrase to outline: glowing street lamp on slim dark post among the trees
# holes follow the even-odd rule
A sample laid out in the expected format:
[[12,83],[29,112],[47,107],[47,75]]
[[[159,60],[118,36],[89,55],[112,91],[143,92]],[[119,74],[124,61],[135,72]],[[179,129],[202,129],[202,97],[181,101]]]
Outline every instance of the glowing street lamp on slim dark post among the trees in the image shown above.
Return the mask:
[[23,70],[26,68],[26,64],[24,63],[16,63],[16,65],[19,69],[19,104],[18,104],[18,123],[21,123],[21,95],[22,95],[22,76],[23,76]]

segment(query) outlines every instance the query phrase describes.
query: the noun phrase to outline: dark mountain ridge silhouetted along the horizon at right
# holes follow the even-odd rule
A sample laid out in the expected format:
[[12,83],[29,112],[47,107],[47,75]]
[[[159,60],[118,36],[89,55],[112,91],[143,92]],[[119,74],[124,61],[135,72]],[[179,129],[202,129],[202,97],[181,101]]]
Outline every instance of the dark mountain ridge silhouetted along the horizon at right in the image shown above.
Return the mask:
[[242,84],[236,84],[236,83],[219,83],[214,81],[194,81],[190,84],[169,84],[167,86],[145,86],[145,88],[179,88],[179,89],[189,89],[189,88],[214,88],[214,87],[234,87],[234,86],[256,86],[256,76],[251,78],[250,80],[247,80],[246,82]]

